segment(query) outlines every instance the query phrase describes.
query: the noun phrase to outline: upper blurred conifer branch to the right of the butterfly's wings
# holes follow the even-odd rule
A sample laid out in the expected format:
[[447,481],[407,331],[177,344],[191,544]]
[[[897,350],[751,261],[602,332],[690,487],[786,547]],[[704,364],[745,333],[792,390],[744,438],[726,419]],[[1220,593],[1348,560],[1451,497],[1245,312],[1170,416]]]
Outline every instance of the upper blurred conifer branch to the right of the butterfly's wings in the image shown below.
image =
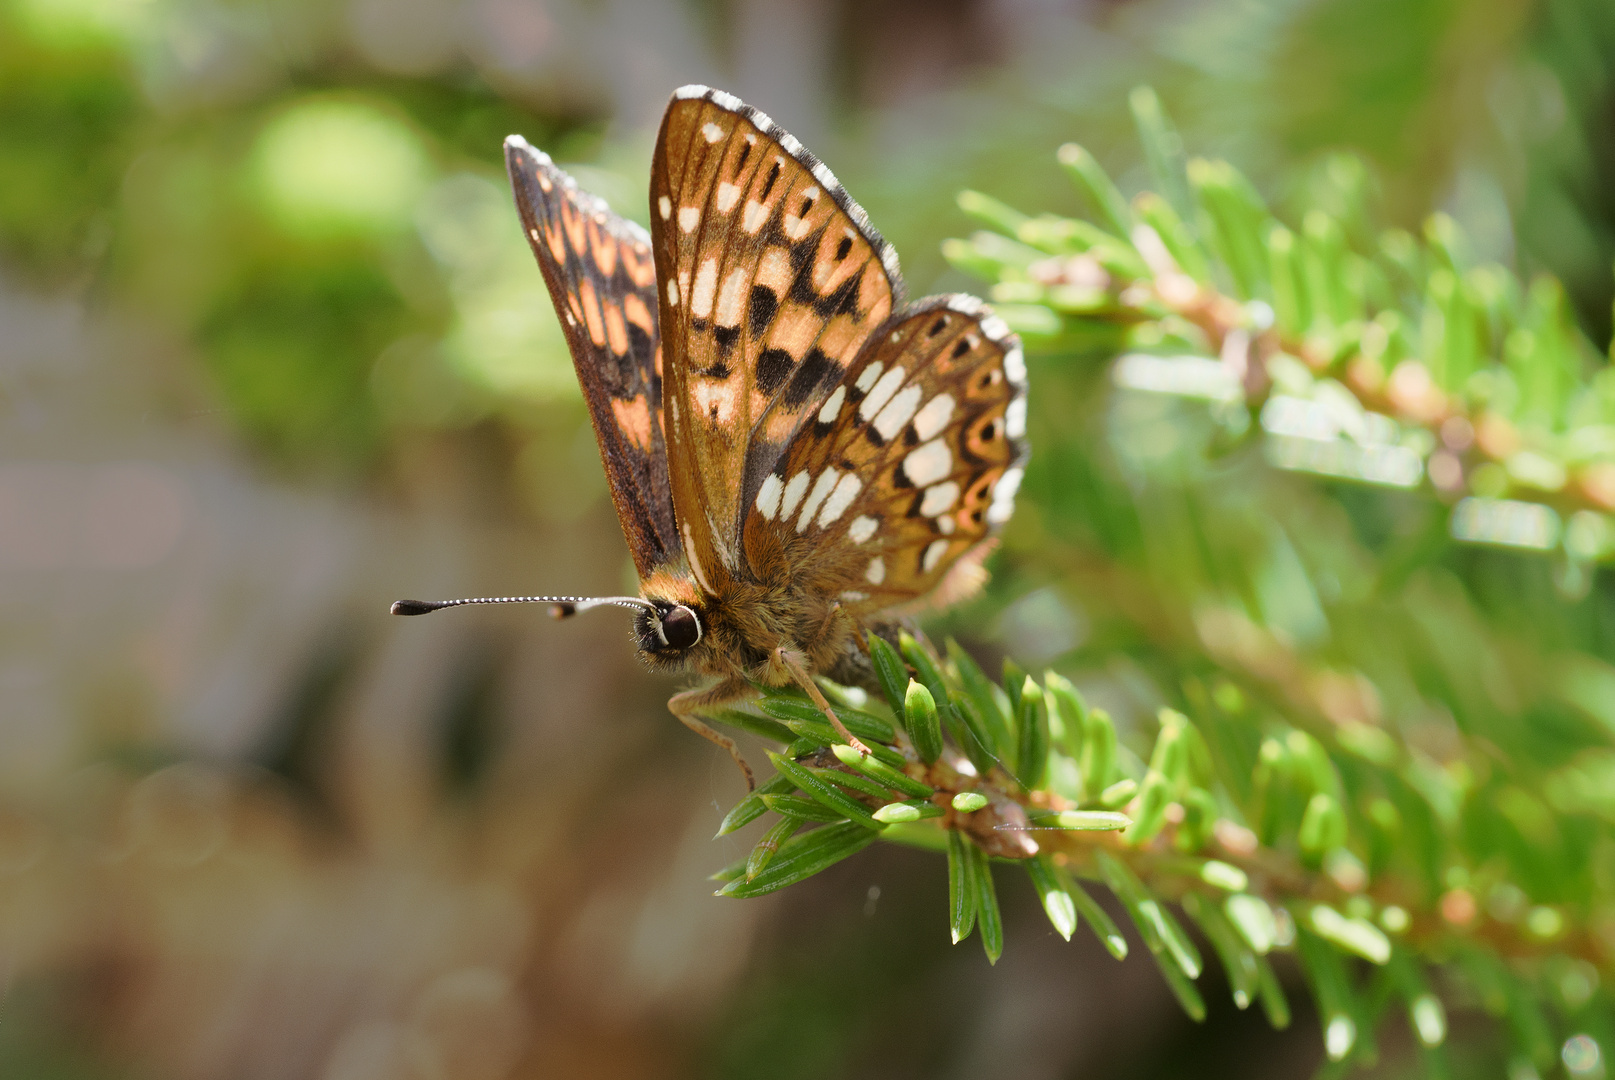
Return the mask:
[[1292,229],[1227,161],[1184,161],[1153,92],[1134,111],[1169,199],[1127,203],[1076,144],[1059,163],[1095,221],[959,195],[987,231],[943,253],[1029,344],[1121,354],[1118,384],[1208,399],[1235,434],[1255,418],[1284,468],[1455,504],[1458,539],[1615,555],[1615,370],[1558,281],[1471,265],[1442,213],[1373,236],[1345,155],[1344,213]]

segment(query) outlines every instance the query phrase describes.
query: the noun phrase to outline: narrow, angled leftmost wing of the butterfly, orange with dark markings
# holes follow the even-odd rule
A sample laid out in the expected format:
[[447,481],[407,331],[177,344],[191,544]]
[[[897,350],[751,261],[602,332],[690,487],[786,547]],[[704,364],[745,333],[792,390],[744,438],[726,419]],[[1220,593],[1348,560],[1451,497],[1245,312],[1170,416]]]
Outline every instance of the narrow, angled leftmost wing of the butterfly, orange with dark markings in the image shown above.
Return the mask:
[[678,559],[662,439],[662,349],[651,237],[520,136],[505,168],[572,347],[606,479],[640,578]]

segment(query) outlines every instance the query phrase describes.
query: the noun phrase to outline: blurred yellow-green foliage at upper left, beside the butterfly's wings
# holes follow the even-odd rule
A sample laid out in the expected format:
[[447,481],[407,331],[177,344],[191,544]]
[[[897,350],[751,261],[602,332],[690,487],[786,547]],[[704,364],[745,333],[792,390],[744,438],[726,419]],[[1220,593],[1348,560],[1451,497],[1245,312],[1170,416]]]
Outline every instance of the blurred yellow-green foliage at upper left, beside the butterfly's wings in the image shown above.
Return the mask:
[[[299,468],[352,473],[389,431],[575,400],[564,339],[526,303],[497,150],[510,131],[583,149],[598,126],[475,77],[331,84],[305,65],[252,86],[254,23],[276,16],[291,11],[0,11],[8,266],[45,287],[95,273],[173,326],[237,426]],[[220,76],[233,63],[249,71]],[[585,171],[620,200],[622,181]]]

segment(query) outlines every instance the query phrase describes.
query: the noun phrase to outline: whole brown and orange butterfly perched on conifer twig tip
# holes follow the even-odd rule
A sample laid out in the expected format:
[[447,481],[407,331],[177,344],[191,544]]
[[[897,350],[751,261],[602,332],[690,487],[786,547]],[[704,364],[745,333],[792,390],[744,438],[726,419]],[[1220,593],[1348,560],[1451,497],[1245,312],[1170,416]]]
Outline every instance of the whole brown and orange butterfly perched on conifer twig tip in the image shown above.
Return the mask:
[[[640,573],[640,655],[715,676],[698,714],[812,675],[867,681],[864,623],[979,588],[1026,462],[1026,363],[980,300],[904,303],[896,252],[835,174],[738,98],[673,94],[651,232],[518,136],[505,165]],[[858,739],[841,730],[853,744]]]

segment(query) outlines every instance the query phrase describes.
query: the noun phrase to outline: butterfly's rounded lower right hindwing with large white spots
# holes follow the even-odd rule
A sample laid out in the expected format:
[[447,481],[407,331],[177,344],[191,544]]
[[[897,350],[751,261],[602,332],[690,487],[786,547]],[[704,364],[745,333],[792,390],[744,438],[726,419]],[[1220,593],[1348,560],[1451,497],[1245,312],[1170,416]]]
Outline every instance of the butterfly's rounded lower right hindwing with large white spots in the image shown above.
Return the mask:
[[929,297],[859,352],[764,476],[748,559],[853,615],[912,604],[987,554],[1026,457],[1019,341],[975,297]]

